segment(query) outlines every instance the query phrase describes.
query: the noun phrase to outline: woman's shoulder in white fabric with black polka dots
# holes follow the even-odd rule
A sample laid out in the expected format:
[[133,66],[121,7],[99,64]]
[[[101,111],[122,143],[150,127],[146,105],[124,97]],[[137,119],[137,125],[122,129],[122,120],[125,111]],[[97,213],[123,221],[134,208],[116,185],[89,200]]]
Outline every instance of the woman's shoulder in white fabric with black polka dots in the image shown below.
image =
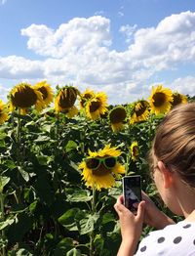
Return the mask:
[[149,233],[139,243],[136,255],[195,255],[195,222],[181,221]]

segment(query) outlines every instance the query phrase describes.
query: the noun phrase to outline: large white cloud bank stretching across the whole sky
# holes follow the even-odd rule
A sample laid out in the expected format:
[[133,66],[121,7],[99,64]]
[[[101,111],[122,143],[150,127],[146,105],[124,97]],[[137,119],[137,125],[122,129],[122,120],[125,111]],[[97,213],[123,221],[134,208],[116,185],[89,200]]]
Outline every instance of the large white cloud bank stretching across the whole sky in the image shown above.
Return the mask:
[[[176,70],[181,63],[194,64],[195,13],[172,15],[156,27],[136,29],[137,25],[120,28],[131,41],[126,51],[119,52],[111,50],[110,21],[101,16],[75,18],[56,30],[31,24],[21,29],[21,35],[27,36],[27,47],[42,60],[0,57],[0,77],[32,83],[47,79],[54,86],[73,83],[80,90],[91,87],[106,91],[109,102],[116,104],[148,94],[148,79],[158,82],[158,71]],[[179,79],[173,86],[194,94],[190,86],[183,85],[184,78]],[[186,84],[190,81],[186,78]]]

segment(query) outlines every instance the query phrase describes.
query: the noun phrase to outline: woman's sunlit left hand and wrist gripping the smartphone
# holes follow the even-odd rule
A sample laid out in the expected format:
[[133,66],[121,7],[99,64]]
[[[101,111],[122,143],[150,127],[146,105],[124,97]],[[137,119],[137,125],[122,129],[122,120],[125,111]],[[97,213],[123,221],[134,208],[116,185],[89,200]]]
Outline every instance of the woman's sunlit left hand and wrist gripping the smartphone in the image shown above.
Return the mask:
[[142,232],[144,205],[144,201],[139,202],[137,207],[137,215],[134,215],[123,205],[123,195],[118,197],[117,202],[114,205],[114,208],[119,216],[122,235],[122,244],[118,255],[133,255],[135,252],[137,242]]

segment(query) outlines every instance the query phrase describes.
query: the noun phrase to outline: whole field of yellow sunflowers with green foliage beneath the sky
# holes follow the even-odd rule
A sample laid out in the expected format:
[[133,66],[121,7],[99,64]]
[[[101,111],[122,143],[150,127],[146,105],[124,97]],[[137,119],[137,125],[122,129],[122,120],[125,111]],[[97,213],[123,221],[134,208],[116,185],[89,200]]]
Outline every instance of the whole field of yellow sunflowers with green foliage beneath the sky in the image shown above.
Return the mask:
[[142,190],[171,214],[147,155],[164,115],[188,101],[163,85],[121,106],[90,89],[16,85],[0,100],[0,255],[116,255],[124,175],[140,174]]

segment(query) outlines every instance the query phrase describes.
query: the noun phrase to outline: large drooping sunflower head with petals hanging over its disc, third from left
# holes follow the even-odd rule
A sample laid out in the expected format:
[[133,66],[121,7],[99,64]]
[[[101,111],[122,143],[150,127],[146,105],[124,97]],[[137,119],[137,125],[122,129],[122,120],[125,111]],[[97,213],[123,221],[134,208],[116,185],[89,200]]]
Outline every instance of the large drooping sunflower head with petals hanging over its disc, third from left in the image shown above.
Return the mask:
[[77,95],[79,95],[79,91],[73,86],[66,85],[60,88],[55,99],[56,112],[73,107],[76,102]]

